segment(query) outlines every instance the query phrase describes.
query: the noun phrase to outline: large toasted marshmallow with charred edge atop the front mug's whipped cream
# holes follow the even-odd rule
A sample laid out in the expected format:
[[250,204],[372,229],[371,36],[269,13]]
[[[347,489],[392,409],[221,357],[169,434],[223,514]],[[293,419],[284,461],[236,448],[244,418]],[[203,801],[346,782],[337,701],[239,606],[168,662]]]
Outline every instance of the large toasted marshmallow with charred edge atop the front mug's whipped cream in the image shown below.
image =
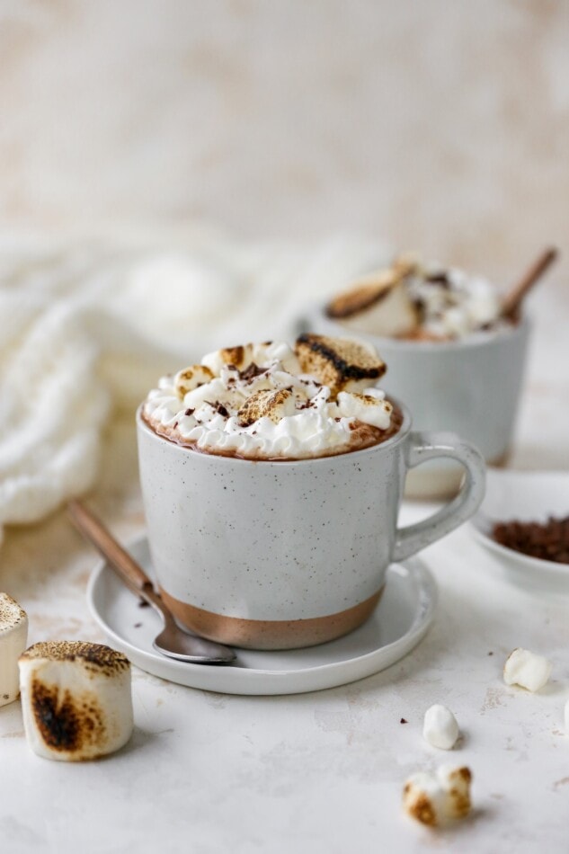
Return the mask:
[[297,339],[295,351],[304,372],[328,386],[332,396],[363,391],[387,370],[373,347],[348,338],[306,333]]

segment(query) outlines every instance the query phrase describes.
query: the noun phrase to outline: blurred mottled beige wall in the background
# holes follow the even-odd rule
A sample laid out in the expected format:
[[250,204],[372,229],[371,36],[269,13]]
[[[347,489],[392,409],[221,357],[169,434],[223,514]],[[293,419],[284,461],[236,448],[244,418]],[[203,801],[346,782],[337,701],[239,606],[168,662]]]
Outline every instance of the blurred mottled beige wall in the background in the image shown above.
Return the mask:
[[4,223],[566,242],[565,0],[0,0],[0,61]]

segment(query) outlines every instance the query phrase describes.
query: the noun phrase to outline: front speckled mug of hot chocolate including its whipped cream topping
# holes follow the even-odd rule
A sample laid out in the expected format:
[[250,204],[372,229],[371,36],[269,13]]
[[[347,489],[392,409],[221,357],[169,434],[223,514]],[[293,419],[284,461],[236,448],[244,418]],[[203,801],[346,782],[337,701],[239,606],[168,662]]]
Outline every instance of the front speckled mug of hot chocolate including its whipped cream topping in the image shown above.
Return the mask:
[[[444,536],[482,501],[478,451],[411,431],[357,342],[305,334],[206,356],[138,409],[140,480],[156,579],[183,626],[257,649],[314,645],[359,626],[387,566]],[[286,392],[286,394],[283,394]],[[397,529],[410,467],[466,471],[457,500]]]

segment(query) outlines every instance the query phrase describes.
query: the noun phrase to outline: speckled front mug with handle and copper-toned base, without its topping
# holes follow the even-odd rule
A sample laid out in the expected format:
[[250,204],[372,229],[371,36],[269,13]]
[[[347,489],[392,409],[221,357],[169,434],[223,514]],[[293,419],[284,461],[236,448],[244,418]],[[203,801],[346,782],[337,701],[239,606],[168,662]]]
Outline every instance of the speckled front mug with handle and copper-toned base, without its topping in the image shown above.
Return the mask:
[[[176,620],[223,644],[290,649],[347,634],[369,617],[387,566],[467,520],[485,464],[451,433],[412,432],[333,457],[248,460],[158,436],[138,412],[140,481],[156,579]],[[451,457],[458,497],[397,528],[409,468]]]

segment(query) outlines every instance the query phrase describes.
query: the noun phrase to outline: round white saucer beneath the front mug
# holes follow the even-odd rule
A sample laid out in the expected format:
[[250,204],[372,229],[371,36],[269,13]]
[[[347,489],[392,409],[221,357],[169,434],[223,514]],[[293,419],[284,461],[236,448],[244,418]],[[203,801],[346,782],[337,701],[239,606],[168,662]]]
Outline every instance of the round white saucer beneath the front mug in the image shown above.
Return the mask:
[[[129,547],[153,576],[147,539]],[[367,622],[350,635],[307,649],[237,650],[230,666],[188,664],[156,653],[152,641],[160,618],[120,582],[106,561],[93,569],[87,601],[109,643],[141,670],[191,688],[226,694],[301,694],[334,688],[396,663],[431,625],[437,600],[431,573],[417,558],[387,569],[386,590]]]

